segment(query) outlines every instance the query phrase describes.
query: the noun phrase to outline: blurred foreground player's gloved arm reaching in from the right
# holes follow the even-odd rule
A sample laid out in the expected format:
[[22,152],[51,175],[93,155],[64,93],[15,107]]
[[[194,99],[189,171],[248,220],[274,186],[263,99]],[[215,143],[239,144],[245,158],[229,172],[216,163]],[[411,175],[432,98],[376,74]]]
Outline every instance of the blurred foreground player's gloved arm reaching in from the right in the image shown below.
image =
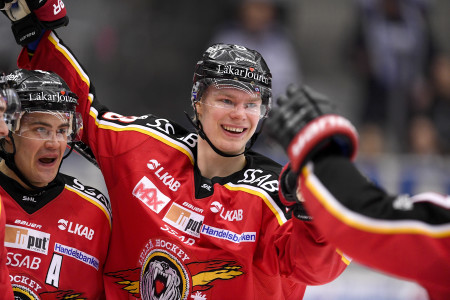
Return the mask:
[[331,102],[291,86],[270,119],[297,176],[284,186],[305,205],[331,243],[355,261],[414,280],[431,300],[450,299],[450,197],[388,195],[352,163],[358,137]]

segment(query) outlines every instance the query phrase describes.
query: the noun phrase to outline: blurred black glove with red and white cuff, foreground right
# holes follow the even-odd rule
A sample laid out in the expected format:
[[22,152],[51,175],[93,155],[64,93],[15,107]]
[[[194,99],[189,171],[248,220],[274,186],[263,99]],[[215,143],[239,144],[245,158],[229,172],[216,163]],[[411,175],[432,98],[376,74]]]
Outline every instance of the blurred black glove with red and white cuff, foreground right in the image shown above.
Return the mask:
[[299,173],[318,154],[337,153],[354,159],[358,134],[350,121],[334,113],[325,96],[307,86],[290,85],[277,103],[266,128],[287,150],[294,172]]

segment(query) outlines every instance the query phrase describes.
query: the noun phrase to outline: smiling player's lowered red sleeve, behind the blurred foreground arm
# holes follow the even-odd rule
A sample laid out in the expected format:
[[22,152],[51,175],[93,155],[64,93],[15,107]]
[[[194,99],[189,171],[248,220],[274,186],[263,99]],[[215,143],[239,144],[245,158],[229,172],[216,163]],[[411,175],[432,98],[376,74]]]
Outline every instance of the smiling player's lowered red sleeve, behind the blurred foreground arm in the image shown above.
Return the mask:
[[[259,266],[268,274],[304,285],[322,285],[336,279],[349,265],[350,259],[330,244],[314,221],[293,217],[292,208],[284,206],[278,192],[273,193],[275,209],[263,212],[259,251],[263,258]],[[259,252],[256,255],[259,258]],[[267,269],[266,269],[267,268]]]

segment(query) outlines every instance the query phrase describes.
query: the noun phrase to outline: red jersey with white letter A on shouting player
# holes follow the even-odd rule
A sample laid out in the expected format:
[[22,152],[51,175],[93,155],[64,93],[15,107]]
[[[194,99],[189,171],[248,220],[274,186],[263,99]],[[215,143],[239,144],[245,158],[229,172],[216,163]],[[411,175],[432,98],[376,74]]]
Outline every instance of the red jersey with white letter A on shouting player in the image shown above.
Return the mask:
[[109,200],[64,174],[38,193],[2,173],[0,180],[6,265],[16,299],[105,299]]

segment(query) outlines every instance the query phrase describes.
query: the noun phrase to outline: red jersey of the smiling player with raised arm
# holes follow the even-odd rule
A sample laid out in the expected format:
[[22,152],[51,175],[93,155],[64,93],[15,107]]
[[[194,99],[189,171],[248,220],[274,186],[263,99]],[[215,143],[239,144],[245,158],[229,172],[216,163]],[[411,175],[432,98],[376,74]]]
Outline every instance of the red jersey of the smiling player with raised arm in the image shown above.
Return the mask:
[[113,210],[108,299],[301,299],[348,260],[278,198],[281,167],[257,153],[225,178],[196,164],[197,134],[153,115],[123,116],[94,99],[90,78],[54,33],[22,68],[54,71],[79,96],[83,139]]

